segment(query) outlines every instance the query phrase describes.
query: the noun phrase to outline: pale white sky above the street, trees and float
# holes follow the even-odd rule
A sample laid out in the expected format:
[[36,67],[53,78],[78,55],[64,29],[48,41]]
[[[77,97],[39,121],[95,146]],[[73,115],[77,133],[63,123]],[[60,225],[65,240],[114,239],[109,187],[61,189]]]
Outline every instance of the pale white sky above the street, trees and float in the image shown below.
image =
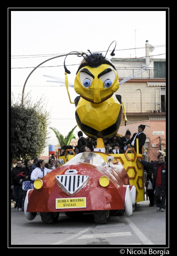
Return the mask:
[[[11,19],[11,20],[10,20]],[[166,58],[166,9],[102,9],[79,10],[55,8],[15,9],[9,12],[9,30],[11,31],[11,91],[15,97],[22,97],[24,83],[30,72],[43,61],[54,56],[78,52],[103,52],[105,55],[109,45],[116,41],[115,56],[117,58],[145,57],[146,40],[155,47],[150,53],[154,58]],[[110,46],[107,57],[115,42]],[[135,49],[136,47],[136,49]],[[9,51],[10,53],[10,51]],[[32,100],[43,95],[50,112],[50,127],[59,130],[64,136],[77,125],[75,105],[70,104],[66,87],[59,86],[57,81],[43,75],[65,79],[65,57],[49,60],[37,68],[28,79],[25,94],[31,91]],[[68,80],[74,83],[76,71],[82,57],[67,56],[65,64],[70,70]],[[78,96],[69,87],[71,101]],[[19,95],[20,94],[20,95]],[[43,152],[48,154],[48,145],[58,144],[54,132],[50,131],[50,139]],[[74,134],[80,131],[76,127]]]

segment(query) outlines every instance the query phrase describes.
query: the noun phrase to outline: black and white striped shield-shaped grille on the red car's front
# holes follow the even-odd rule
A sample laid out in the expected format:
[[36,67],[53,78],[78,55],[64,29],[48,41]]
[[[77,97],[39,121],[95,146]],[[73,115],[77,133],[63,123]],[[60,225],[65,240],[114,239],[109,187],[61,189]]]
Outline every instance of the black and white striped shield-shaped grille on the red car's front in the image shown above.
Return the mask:
[[87,175],[66,174],[55,176],[59,187],[68,195],[75,195],[88,182]]

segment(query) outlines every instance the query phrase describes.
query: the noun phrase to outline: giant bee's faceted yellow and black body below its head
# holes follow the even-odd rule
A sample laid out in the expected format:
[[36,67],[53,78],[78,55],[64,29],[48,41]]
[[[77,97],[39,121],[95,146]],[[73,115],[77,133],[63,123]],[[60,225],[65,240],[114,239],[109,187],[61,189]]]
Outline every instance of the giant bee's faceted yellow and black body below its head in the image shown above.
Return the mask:
[[75,114],[81,131],[93,139],[107,140],[115,136],[123,117],[123,109],[118,97],[119,95],[113,94],[106,101],[93,104],[78,96],[75,100]]

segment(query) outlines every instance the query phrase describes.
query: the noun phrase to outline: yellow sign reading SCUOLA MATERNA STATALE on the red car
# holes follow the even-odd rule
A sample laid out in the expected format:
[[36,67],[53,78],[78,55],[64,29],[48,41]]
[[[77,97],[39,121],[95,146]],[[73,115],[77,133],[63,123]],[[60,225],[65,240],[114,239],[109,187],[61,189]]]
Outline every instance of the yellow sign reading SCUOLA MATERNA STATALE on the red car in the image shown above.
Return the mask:
[[64,208],[85,208],[86,197],[57,198],[56,209]]

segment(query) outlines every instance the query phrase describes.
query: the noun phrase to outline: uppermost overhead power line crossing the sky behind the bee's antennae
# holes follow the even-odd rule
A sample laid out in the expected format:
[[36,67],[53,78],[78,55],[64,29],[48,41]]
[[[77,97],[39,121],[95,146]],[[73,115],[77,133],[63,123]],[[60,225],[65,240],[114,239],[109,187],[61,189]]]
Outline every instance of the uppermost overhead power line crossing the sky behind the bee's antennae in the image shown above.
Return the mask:
[[[153,47],[165,47],[166,45],[155,45]],[[119,50],[115,50],[116,51],[123,51],[123,50],[134,50],[134,49],[145,49],[146,47],[138,47],[138,48],[129,48],[129,49],[119,49]],[[112,50],[108,50],[108,52],[111,52]],[[100,51],[100,52],[107,52],[107,51]],[[88,52],[86,52],[88,53]],[[93,53],[93,52],[92,52]],[[51,53],[51,54],[31,54],[31,55],[12,55],[11,57],[18,57],[18,56],[22,56],[19,58],[11,58],[11,59],[25,59],[25,58],[41,58],[41,57],[52,57],[52,56],[58,56],[58,55],[62,55],[62,54],[67,54],[67,53]],[[24,57],[24,56],[31,56],[31,57]],[[32,57],[34,56],[34,57]]]

